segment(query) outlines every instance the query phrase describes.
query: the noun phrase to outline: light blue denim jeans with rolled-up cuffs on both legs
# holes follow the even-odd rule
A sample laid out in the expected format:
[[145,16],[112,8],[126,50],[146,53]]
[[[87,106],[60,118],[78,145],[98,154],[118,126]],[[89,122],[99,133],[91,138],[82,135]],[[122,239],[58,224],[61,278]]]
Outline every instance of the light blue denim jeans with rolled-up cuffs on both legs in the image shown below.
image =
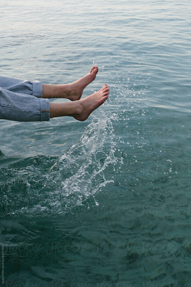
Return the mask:
[[49,121],[50,104],[42,98],[42,82],[0,76],[0,119]]

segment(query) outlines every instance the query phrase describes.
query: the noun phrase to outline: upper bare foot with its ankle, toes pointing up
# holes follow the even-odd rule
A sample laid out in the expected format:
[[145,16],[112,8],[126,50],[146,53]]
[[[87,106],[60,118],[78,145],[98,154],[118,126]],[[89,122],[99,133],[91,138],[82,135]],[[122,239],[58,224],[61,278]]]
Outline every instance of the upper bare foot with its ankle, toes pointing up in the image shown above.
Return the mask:
[[71,84],[58,85],[57,97],[66,98],[71,101],[79,100],[82,96],[84,88],[95,79],[97,72],[98,67],[93,66],[89,73],[81,79]]

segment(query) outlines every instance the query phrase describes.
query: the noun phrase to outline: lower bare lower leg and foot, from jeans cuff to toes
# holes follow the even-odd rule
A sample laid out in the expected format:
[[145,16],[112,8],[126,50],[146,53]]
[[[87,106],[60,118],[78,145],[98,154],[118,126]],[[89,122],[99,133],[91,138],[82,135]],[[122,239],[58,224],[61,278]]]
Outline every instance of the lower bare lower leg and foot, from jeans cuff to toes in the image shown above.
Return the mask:
[[108,95],[109,87],[105,84],[98,92],[86,98],[67,103],[50,103],[50,118],[70,116],[78,121],[85,121],[105,102]]

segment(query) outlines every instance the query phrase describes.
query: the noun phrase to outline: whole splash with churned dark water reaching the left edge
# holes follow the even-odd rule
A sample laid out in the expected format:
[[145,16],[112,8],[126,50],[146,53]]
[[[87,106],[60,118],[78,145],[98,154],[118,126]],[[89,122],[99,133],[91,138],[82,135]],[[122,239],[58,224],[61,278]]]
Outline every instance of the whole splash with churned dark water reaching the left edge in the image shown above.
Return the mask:
[[79,205],[88,208],[88,198],[99,205],[96,193],[113,182],[114,137],[112,117],[99,113],[56,162],[55,157],[38,156],[39,164],[30,157],[4,168],[7,181],[1,186],[1,211],[29,216],[65,214]]

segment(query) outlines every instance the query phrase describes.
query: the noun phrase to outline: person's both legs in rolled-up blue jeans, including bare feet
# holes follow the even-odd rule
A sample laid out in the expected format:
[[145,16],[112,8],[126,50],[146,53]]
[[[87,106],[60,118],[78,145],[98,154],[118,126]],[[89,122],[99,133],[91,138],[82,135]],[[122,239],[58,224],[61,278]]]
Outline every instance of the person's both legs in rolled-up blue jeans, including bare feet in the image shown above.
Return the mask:
[[[45,84],[44,89],[40,81],[0,77],[0,119],[49,121],[52,117],[71,116],[85,121],[109,95],[109,87],[105,85],[98,92],[80,99],[84,88],[95,79],[97,72],[98,68],[94,66],[86,76],[72,84]],[[52,96],[68,98],[73,102],[49,104],[46,97]]]

